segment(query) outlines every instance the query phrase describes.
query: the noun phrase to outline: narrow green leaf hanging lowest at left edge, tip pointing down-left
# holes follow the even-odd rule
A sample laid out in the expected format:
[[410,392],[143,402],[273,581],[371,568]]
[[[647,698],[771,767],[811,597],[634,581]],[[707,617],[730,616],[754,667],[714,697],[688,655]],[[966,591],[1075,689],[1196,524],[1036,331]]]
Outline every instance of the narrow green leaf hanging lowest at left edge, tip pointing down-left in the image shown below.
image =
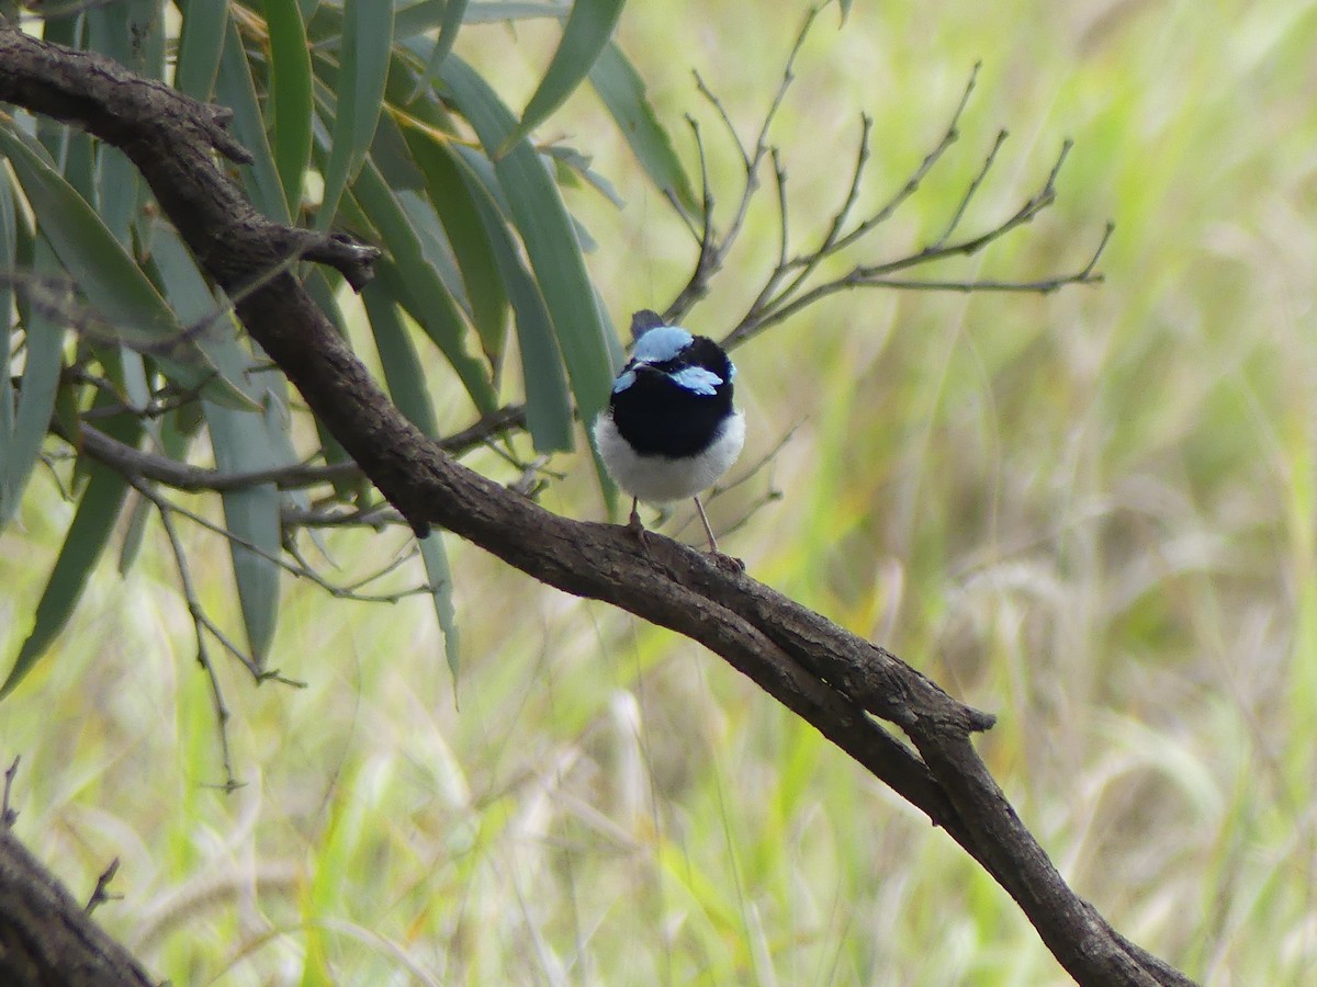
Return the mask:
[[[121,442],[136,445],[138,436],[136,422],[124,417],[116,422],[116,425],[105,424],[105,430]],[[115,530],[115,520],[124,505],[128,483],[113,470],[95,462],[88,465],[88,474],[91,479],[83,490],[74,521],[68,526],[59,557],[37,603],[32,633],[22,642],[8,678],[0,686],[0,699],[9,695],[26,678],[50,647],[51,641],[65,629],[87,586],[87,576],[91,575]]]

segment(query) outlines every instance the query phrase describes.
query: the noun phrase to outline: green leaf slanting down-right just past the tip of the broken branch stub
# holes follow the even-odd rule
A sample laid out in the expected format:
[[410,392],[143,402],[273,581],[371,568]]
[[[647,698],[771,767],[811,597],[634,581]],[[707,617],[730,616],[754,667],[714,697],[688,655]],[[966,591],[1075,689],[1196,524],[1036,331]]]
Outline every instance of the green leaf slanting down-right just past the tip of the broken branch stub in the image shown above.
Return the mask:
[[[493,411],[497,395],[485,365],[466,351],[466,326],[435,267],[425,259],[420,240],[398,196],[389,188],[371,161],[366,161],[353,186],[362,211],[389,245],[400,275],[398,300],[439,346],[468,393],[482,412]],[[386,262],[387,263],[387,262]],[[386,265],[377,265],[379,271]]]

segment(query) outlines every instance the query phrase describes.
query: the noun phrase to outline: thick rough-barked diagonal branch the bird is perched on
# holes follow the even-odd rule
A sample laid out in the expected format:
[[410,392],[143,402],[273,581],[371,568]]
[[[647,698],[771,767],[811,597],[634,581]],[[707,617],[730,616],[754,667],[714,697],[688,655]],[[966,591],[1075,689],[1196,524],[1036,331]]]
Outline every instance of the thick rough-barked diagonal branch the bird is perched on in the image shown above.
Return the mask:
[[[651,536],[647,551],[626,528],[552,515],[462,467],[408,424],[287,268],[262,280],[291,254],[324,251],[308,246],[315,234],[257,216],[216,167],[215,150],[241,158],[224,136],[223,111],[11,28],[0,28],[0,99],[76,122],[133,159],[207,272],[244,297],[238,315],[252,337],[417,532],[440,524],[540,582],[612,603],[723,657],[943,826],[1080,983],[1191,983],[1065,886],[973,749],[971,734],[989,728],[990,716],[745,574],[661,536]],[[367,271],[350,257],[324,254],[356,283]],[[869,713],[900,726],[915,750]]]

